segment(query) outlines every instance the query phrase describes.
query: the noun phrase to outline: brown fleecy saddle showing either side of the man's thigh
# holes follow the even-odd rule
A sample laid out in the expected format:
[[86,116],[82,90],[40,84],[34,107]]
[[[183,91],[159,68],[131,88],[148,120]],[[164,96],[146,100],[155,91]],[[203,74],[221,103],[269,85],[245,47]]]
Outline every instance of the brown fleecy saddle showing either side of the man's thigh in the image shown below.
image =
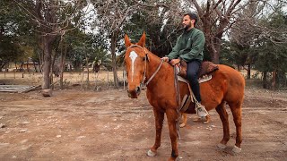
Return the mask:
[[[180,64],[178,65],[178,69],[179,69],[178,75],[184,79],[187,79],[187,62],[185,62],[184,60],[181,60]],[[202,78],[205,75],[212,74],[214,71],[218,69],[219,67],[217,64],[204,61],[199,68],[198,78]]]

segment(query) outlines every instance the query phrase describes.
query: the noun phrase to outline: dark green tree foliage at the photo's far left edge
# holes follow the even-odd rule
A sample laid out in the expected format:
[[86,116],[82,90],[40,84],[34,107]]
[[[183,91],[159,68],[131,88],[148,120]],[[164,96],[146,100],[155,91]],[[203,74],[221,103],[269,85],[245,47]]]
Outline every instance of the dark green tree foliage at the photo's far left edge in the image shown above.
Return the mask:
[[[0,69],[9,62],[23,61],[32,26],[21,10],[8,0],[0,1]],[[28,31],[28,33],[27,33]]]

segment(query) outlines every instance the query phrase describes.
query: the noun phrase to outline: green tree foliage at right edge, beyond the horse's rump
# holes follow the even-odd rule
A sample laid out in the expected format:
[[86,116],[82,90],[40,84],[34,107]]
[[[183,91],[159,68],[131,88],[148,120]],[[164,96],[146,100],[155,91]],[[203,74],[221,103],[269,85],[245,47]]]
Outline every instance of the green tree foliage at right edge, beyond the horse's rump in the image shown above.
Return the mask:
[[[283,13],[280,4],[274,5],[272,13],[265,13],[262,17],[253,17],[251,9],[240,13],[239,19],[245,17],[252,21],[254,25],[246,21],[237,22],[230,31],[230,44],[228,50],[222,49],[223,61],[227,64],[237,64],[244,66],[251,64],[253,69],[264,75],[264,84],[271,84],[276,73],[276,86],[286,86],[287,72],[287,15]],[[223,43],[224,44],[224,43]],[[228,52],[224,52],[228,51]]]

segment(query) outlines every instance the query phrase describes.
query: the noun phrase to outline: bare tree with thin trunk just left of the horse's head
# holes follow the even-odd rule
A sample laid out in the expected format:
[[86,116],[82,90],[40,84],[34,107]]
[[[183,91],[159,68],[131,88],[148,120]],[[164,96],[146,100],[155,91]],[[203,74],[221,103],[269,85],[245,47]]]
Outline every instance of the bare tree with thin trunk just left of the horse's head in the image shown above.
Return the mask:
[[[112,55],[114,85],[116,88],[118,87],[116,50],[118,36],[121,34],[120,30],[123,30],[123,27],[130,22],[129,20],[134,13],[139,13],[141,11],[155,11],[152,12],[154,15],[157,14],[156,12],[158,11],[159,7],[171,8],[168,4],[155,2],[157,1],[152,0],[145,1],[145,3],[143,3],[141,1],[135,0],[91,0],[91,3],[94,4],[96,13],[98,15],[95,17],[95,26],[97,26],[101,32],[106,34],[110,39],[110,52]],[[155,20],[152,19],[152,16],[147,17],[147,19],[149,19],[149,21]]]

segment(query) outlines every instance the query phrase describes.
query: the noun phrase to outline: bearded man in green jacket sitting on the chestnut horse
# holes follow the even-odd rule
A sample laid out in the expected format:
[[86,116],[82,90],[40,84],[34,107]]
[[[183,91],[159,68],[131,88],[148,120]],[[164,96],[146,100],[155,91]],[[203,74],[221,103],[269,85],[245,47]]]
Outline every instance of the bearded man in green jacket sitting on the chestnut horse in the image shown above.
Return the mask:
[[[177,44],[172,48],[169,55],[162,57],[165,62],[172,65],[178,64],[181,60],[187,62],[187,80],[195,94],[196,100],[201,104],[200,89],[198,82],[198,71],[204,59],[204,32],[195,28],[197,22],[196,13],[184,14],[182,24],[184,32],[178,37]],[[204,117],[208,115],[204,106],[196,108],[196,113]]]

